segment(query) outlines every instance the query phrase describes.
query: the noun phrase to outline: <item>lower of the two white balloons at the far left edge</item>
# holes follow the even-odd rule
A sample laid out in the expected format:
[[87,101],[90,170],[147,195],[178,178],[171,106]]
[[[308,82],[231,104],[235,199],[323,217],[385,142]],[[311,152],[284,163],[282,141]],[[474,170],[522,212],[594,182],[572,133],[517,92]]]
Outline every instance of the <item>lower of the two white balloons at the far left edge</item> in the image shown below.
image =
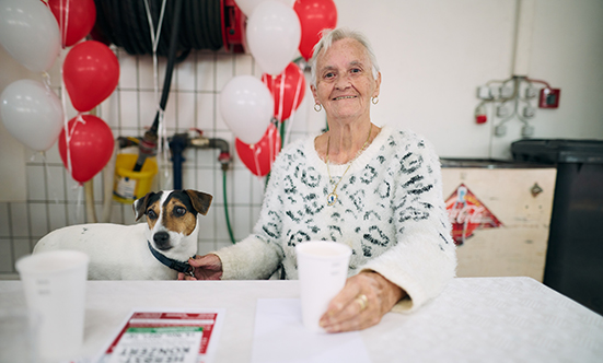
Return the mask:
[[10,134],[36,151],[50,149],[62,130],[59,97],[33,80],[19,80],[4,89],[0,117]]

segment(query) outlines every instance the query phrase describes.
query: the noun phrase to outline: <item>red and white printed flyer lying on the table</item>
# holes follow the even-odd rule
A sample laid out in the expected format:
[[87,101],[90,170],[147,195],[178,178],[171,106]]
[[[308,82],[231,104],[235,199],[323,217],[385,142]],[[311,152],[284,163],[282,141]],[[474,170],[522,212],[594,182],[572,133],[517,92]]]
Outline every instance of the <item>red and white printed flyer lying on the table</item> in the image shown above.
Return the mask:
[[224,309],[137,309],[100,363],[211,363]]

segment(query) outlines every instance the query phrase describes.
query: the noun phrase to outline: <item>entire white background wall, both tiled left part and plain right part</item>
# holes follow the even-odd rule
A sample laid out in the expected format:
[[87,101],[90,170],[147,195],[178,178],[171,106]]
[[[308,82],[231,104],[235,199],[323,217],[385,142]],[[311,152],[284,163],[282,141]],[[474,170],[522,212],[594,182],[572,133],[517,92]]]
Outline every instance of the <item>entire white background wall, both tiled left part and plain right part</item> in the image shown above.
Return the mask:
[[[534,137],[603,139],[603,1],[532,1],[535,15],[527,75],[561,89],[558,109],[537,109],[531,121]],[[425,134],[441,156],[510,157],[510,143],[521,138],[522,124],[509,121],[505,137],[492,137],[495,124],[476,125],[474,108],[478,85],[511,77],[515,0],[335,2],[339,26],[366,33],[375,48],[383,75],[381,101],[372,112],[376,124],[395,124]],[[141,136],[155,114],[151,61],[125,51],[117,54],[120,84],[101,107],[100,116],[116,137]],[[57,93],[59,66],[60,60],[50,72]],[[163,71],[161,68],[161,78]],[[166,109],[170,134],[198,127],[210,137],[228,140],[235,154],[234,138],[217,105],[223,85],[241,74],[262,74],[250,55],[193,52],[174,73]],[[0,49],[0,89],[23,78],[42,81],[40,74],[26,71]],[[73,116],[72,109],[69,115]],[[294,136],[322,127],[324,112],[314,113],[311,98],[306,98],[295,116]],[[0,142],[0,185],[10,190],[0,194],[1,277],[14,272],[14,260],[31,250],[42,235],[83,221],[83,208],[81,188],[65,173],[56,147],[48,152],[45,165],[40,155],[11,139],[1,126]],[[185,156],[184,187],[214,196],[211,213],[204,219],[199,253],[228,245],[217,155],[188,150]],[[96,177],[97,204],[102,202],[100,182]],[[237,239],[254,225],[263,184],[235,157],[227,190]],[[114,204],[112,221],[132,223],[129,206]]]

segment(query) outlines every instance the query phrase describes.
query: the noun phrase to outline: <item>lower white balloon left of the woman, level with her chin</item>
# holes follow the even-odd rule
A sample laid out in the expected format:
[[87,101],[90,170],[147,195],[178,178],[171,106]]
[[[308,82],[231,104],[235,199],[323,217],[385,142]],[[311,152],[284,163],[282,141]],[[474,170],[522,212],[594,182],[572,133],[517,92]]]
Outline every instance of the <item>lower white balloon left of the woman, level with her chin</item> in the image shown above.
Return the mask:
[[227,126],[247,144],[262,140],[274,109],[270,91],[253,75],[233,78],[220,95],[220,112]]

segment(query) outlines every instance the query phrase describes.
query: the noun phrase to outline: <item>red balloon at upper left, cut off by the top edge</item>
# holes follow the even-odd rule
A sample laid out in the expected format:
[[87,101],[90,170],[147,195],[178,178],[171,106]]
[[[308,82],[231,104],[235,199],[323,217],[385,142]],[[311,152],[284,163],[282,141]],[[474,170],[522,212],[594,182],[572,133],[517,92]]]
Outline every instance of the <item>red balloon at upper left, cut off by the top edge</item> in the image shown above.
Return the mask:
[[61,33],[62,47],[80,42],[96,22],[94,0],[48,0]]

